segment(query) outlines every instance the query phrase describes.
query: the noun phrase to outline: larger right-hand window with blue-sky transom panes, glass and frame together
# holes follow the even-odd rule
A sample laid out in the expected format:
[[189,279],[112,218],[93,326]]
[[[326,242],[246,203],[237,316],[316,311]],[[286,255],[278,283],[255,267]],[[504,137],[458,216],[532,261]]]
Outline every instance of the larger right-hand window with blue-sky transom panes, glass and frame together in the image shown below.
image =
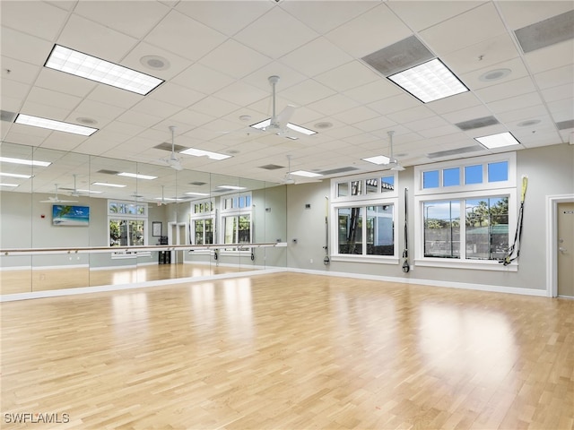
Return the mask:
[[[514,153],[415,168],[416,263],[500,270],[517,213],[515,172]],[[432,188],[428,177],[436,179]]]

